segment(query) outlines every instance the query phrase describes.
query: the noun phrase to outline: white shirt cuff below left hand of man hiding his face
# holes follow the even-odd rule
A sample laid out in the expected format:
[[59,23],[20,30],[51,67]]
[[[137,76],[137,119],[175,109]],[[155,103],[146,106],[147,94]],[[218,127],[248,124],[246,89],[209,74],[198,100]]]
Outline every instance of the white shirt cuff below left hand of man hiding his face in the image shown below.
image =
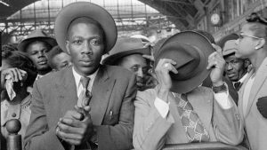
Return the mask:
[[158,99],[156,98],[154,101],[154,105],[158,110],[158,113],[163,117],[166,118],[166,115],[169,112],[169,105],[170,102],[166,103],[164,100],[162,99]]

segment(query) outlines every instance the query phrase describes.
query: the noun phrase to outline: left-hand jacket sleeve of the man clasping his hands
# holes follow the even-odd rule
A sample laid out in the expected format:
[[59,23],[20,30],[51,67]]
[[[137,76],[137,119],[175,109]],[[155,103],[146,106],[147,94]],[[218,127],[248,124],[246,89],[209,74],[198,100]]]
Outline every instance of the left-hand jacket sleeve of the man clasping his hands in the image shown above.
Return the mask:
[[48,128],[44,101],[38,88],[38,82],[36,82],[32,92],[31,115],[24,138],[24,148],[26,150],[63,150],[61,141],[55,135],[55,127]]

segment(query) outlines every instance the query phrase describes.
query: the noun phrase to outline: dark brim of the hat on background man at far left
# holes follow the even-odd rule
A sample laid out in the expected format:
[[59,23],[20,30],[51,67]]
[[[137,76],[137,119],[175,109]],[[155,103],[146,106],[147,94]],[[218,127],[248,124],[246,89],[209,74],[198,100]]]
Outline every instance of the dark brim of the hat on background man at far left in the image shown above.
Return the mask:
[[32,37],[32,38],[27,38],[25,40],[23,40],[19,45],[18,45],[18,49],[19,51],[23,51],[26,52],[26,47],[28,46],[29,43],[35,42],[35,41],[44,41],[45,43],[50,44],[52,47],[57,45],[57,42],[55,39],[53,39],[52,37],[44,37],[44,36],[36,36],[36,37]]

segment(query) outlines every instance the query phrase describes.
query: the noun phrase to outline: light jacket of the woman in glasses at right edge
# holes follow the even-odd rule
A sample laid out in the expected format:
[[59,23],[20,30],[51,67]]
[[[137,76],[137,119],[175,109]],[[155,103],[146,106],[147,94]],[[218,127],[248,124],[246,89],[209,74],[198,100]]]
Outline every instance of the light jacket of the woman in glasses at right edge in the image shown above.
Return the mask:
[[244,126],[247,130],[247,138],[253,150],[265,150],[267,147],[267,119],[263,117],[256,107],[259,98],[267,96],[267,58],[263,60],[262,65],[255,74],[255,81],[252,85],[247,111],[243,112],[243,95],[248,79],[253,75],[251,71],[239,91],[239,112],[244,120]]

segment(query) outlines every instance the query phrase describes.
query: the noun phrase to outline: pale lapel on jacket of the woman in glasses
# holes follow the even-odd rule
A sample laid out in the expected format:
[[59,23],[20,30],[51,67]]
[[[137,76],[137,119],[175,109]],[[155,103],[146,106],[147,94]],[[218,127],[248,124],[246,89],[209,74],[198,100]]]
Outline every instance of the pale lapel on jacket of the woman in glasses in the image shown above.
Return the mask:
[[257,70],[255,74],[255,81],[251,87],[248,104],[247,104],[247,112],[245,116],[247,116],[247,114],[249,113],[250,108],[252,107],[252,104],[255,101],[256,95],[262,88],[266,77],[267,77],[267,58],[263,60],[263,64],[259,67],[259,69]]

